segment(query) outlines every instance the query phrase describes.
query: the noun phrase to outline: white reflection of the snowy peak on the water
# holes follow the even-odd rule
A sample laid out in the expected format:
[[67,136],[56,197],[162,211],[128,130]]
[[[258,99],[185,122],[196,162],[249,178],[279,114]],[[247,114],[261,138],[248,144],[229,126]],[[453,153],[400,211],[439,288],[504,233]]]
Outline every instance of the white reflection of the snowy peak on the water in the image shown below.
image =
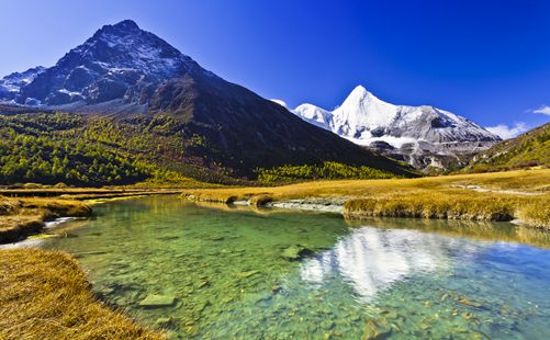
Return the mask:
[[352,230],[332,250],[304,261],[301,276],[322,284],[337,271],[359,295],[371,297],[408,274],[445,267],[445,249],[453,241],[414,230],[364,227]]

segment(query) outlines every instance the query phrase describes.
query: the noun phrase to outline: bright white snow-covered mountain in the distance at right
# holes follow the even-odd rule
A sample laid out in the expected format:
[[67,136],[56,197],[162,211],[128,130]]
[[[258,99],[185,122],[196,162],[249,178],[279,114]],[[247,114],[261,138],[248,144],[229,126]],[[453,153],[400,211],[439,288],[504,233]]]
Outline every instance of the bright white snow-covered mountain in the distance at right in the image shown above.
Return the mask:
[[358,86],[334,111],[302,104],[294,114],[357,145],[417,169],[465,166],[501,138],[474,122],[434,106],[384,102]]

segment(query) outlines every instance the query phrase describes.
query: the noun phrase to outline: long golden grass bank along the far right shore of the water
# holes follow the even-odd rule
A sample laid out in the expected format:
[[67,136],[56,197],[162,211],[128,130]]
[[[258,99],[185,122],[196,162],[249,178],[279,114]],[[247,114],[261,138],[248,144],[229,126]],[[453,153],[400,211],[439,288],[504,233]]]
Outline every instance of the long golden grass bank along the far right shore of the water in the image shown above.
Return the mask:
[[190,200],[251,204],[346,197],[351,218],[389,216],[512,220],[550,228],[550,169],[419,179],[314,181],[274,188],[186,190]]

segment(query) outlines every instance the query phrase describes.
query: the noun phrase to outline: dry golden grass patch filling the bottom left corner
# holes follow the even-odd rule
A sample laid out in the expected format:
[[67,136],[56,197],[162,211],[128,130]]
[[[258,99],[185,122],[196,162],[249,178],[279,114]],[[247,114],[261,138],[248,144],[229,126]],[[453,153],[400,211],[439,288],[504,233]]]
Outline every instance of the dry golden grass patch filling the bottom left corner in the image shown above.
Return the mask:
[[68,254],[0,251],[0,339],[164,339],[98,302]]

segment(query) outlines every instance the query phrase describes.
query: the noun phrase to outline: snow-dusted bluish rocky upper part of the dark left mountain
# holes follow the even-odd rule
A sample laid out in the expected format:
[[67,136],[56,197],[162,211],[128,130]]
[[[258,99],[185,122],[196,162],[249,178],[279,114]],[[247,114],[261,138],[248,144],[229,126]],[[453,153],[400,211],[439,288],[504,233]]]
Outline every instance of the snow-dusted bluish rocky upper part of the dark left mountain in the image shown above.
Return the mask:
[[110,107],[131,105],[132,111],[144,111],[160,83],[184,72],[213,75],[160,37],[124,20],[104,25],[54,67],[10,88],[11,98],[0,93],[0,99],[72,111],[105,102]]

